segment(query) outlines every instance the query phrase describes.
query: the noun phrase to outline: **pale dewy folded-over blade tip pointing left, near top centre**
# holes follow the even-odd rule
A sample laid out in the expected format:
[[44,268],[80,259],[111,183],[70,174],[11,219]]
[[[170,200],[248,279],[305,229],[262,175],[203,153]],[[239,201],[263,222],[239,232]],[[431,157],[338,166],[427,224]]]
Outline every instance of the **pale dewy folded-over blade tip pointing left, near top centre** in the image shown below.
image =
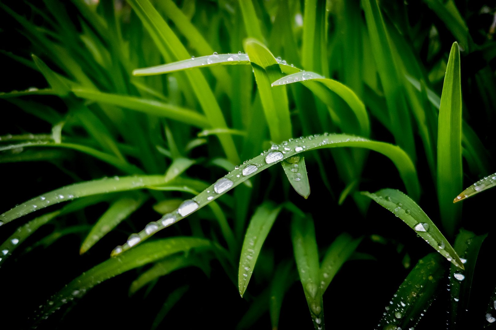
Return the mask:
[[248,65],[250,64],[247,54],[217,54],[188,58],[182,61],[152,66],[149,68],[135,69],[134,76],[153,76],[176,71],[184,71],[192,68],[212,67],[218,65]]

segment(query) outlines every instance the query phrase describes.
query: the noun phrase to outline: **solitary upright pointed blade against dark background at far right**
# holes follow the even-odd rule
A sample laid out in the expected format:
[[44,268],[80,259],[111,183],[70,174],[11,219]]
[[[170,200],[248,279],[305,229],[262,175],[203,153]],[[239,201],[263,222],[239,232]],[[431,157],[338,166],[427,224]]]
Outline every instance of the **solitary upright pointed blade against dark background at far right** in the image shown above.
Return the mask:
[[460,52],[455,42],[449,53],[442,87],[437,129],[437,197],[441,223],[453,236],[461,208],[451,198],[462,189],[462,94]]

